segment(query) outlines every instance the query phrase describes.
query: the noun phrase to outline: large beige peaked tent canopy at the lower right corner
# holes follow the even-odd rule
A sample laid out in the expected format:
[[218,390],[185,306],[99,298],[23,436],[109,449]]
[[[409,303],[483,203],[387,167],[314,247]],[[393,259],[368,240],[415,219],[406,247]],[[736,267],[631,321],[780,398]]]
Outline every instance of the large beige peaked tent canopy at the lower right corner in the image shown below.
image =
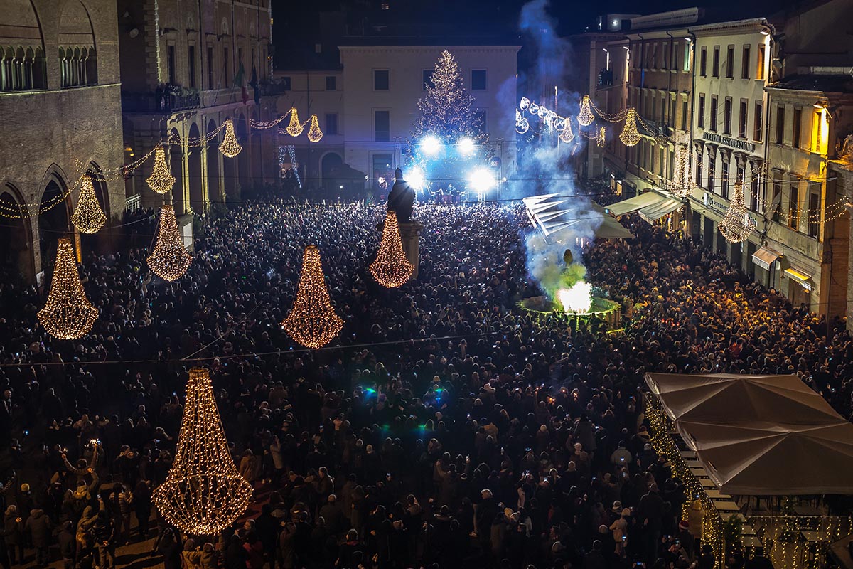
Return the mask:
[[646,383],[721,491],[853,494],[853,425],[796,375],[646,374]]

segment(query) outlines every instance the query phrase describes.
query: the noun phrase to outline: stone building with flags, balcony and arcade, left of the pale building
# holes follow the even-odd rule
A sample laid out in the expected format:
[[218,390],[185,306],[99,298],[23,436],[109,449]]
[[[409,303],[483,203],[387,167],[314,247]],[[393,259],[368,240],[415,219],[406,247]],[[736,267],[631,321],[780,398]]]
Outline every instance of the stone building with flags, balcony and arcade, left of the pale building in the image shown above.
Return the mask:
[[[191,214],[276,180],[277,129],[252,128],[252,120],[276,118],[275,98],[264,96],[270,2],[119,0],[118,16],[125,161],[166,145],[177,178],[171,200],[189,246]],[[243,147],[233,159],[218,150],[226,119]],[[152,165],[131,177],[131,206],[162,203],[145,183]]]

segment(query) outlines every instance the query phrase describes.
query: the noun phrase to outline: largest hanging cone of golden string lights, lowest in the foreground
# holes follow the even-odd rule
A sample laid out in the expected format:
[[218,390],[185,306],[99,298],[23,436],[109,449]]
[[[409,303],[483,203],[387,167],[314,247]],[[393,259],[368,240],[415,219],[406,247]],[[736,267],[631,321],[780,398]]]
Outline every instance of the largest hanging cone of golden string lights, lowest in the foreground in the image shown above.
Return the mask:
[[166,521],[194,536],[223,531],[252,498],[231,458],[207,369],[189,370],[175,461],[153,497]]

